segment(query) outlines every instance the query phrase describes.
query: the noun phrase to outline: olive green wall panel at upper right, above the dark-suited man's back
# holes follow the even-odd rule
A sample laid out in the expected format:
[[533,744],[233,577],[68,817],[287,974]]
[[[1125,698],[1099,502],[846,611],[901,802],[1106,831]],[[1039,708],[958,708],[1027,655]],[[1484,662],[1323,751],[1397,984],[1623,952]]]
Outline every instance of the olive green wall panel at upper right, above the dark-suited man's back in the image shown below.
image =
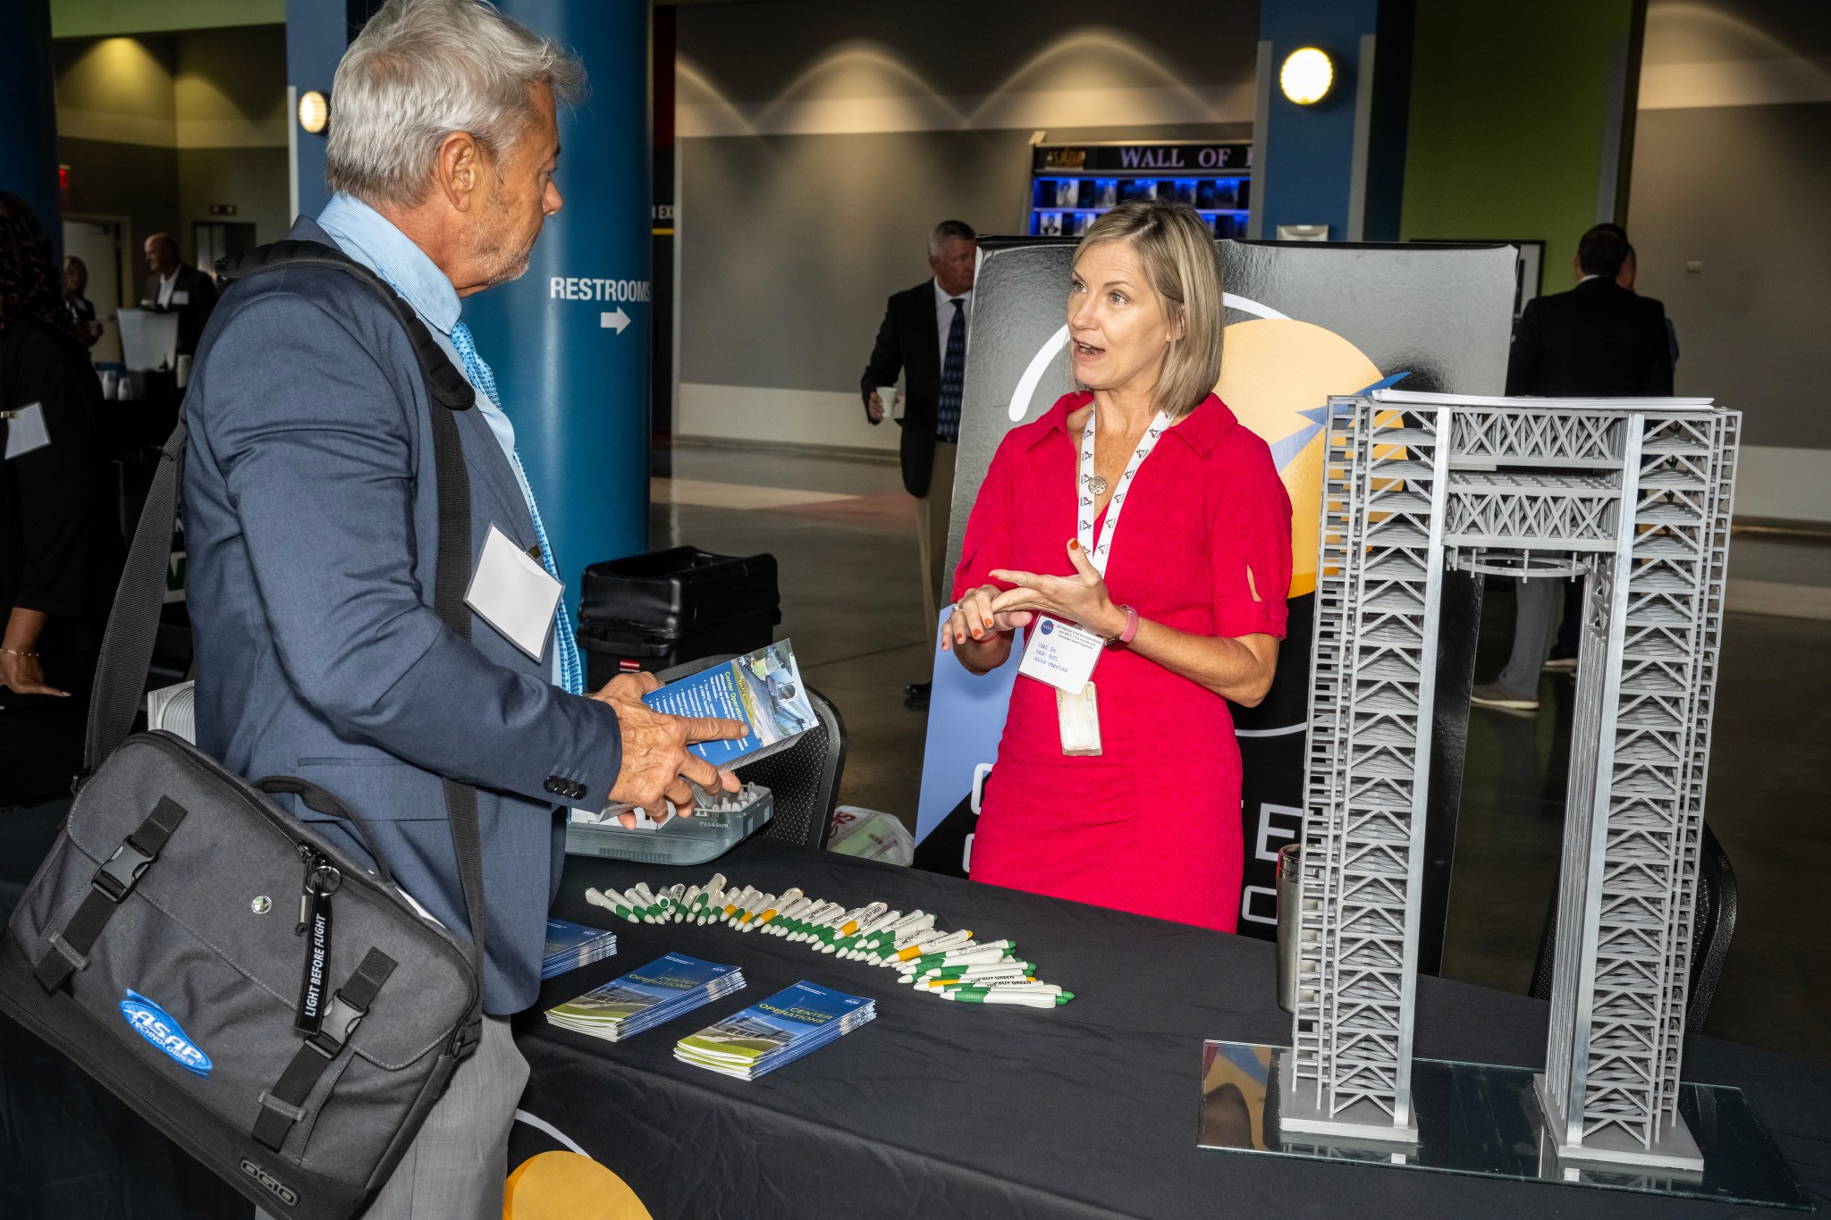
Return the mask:
[[1417,0],[1401,236],[1536,238],[1544,291],[1571,287],[1633,7]]

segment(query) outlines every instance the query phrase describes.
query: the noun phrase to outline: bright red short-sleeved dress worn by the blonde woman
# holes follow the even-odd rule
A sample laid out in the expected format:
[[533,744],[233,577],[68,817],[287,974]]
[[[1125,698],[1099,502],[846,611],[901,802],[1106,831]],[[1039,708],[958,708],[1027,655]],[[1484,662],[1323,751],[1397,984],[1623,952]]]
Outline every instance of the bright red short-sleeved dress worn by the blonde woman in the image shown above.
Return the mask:
[[[1071,393],[1005,435],[967,521],[956,598],[1000,583],[992,569],[1073,574],[1080,437],[1066,421],[1089,399]],[[1106,587],[1115,605],[1177,631],[1284,638],[1291,501],[1271,450],[1218,397],[1139,466]],[[1102,754],[1067,757],[1055,688],[1018,675],[972,880],[1234,931],[1240,744],[1227,701],[1126,649],[1102,653],[1093,684]]]

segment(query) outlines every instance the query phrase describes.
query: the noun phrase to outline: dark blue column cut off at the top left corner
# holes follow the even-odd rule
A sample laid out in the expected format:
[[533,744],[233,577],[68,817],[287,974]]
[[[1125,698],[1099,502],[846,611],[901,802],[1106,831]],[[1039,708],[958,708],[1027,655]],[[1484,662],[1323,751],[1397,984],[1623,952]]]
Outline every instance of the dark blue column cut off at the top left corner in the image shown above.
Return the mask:
[[57,205],[57,99],[51,88],[49,0],[0,0],[0,190],[22,198],[62,258]]

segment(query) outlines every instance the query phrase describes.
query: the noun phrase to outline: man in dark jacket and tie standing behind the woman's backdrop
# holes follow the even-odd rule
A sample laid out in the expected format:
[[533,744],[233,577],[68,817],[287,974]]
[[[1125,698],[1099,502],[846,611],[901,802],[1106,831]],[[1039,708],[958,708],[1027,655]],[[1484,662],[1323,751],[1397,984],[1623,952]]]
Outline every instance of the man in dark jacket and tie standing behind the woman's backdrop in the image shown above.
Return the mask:
[[[959,219],[943,219],[928,234],[934,278],[897,293],[877,327],[877,346],[859,391],[864,415],[879,424],[877,393],[903,388],[903,487],[916,498],[916,545],[921,554],[923,633],[932,637],[948,602],[947,523],[954,503],[954,452],[959,446],[959,399],[967,371],[967,327],[972,322],[972,274],[978,234]],[[928,699],[928,682],[910,682],[910,699]]]

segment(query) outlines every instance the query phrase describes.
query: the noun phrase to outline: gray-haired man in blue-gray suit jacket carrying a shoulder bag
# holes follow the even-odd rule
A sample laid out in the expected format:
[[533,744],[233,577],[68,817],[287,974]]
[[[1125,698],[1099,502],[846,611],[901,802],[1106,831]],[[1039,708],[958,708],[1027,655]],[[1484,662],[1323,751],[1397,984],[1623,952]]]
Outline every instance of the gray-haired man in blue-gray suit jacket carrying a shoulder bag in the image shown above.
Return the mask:
[[[555,104],[582,90],[575,59],[487,5],[390,0],[337,70],[335,196],[291,232],[392,284],[478,391],[474,410],[456,412],[472,594],[507,580],[485,558],[493,530],[558,571],[515,454],[504,410],[515,404],[496,401],[460,298],[527,269],[542,219],[560,207]],[[469,640],[443,626],[434,410],[445,408],[430,404],[388,307],[322,267],[234,284],[203,335],[187,401],[198,744],[238,774],[298,776],[342,797],[401,885],[458,935],[469,924],[441,781],[478,788],[483,1037],[372,1220],[502,1215],[527,1077],[507,1017],[540,986],[564,845],[558,801],[690,808],[688,785],[736,785],[688,743],[743,735],[731,721],[648,710],[648,675],[586,697],[564,598],[531,637],[500,613],[478,611]],[[536,640],[538,660],[511,635]],[[297,812],[363,852],[341,819]]]

